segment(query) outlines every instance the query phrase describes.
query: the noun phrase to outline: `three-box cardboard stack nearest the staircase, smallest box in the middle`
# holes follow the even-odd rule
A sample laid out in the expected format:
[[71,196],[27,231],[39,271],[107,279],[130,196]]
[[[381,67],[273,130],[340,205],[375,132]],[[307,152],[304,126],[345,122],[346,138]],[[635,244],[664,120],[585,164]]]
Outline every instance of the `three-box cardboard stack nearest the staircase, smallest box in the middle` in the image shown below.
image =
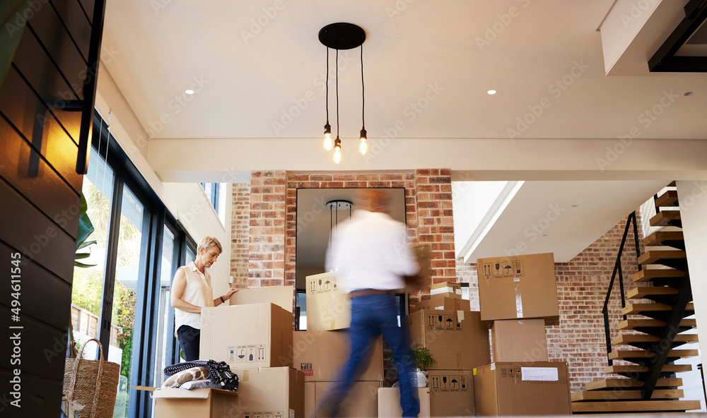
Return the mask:
[[548,362],[545,326],[559,321],[552,253],[479,258],[481,320],[493,363],[474,370],[479,415],[571,414],[565,363]]

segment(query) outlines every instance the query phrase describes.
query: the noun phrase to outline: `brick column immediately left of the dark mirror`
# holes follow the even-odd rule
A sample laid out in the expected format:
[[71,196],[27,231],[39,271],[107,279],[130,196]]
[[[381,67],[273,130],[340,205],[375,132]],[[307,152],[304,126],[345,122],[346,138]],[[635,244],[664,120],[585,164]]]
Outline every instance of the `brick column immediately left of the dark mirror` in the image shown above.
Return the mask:
[[285,170],[250,174],[248,287],[285,284],[285,185]]

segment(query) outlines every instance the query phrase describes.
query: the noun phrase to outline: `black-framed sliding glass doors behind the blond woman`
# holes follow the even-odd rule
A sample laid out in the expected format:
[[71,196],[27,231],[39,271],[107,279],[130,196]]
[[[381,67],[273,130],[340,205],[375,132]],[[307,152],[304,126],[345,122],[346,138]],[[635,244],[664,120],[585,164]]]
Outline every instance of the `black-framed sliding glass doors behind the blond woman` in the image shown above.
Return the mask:
[[[120,364],[113,417],[150,417],[149,394],[130,387],[160,386],[164,366],[178,362],[169,291],[195,246],[98,114],[93,129],[83,196],[95,228],[87,241],[95,243],[82,250],[85,266],[74,269],[73,335],[78,343],[97,338]],[[98,352],[87,346],[84,356]]]

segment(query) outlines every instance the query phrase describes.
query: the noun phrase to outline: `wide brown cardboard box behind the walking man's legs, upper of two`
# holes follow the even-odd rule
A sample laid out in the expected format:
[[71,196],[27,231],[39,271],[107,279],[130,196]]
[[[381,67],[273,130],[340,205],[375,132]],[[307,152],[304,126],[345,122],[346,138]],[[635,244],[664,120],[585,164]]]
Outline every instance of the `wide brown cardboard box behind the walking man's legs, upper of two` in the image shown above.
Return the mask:
[[[294,367],[303,372],[307,382],[334,381],[351,355],[351,337],[347,331],[295,331],[292,341]],[[383,380],[382,336],[375,342],[368,367],[359,373],[356,380]]]

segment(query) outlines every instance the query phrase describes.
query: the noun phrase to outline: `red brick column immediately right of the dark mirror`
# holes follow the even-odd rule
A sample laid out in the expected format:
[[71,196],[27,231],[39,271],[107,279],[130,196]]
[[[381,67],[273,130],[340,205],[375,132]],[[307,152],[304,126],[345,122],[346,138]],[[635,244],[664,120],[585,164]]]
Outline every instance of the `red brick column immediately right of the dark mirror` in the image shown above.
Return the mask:
[[432,281],[455,282],[452,170],[418,169],[416,196],[419,241],[432,246]]

